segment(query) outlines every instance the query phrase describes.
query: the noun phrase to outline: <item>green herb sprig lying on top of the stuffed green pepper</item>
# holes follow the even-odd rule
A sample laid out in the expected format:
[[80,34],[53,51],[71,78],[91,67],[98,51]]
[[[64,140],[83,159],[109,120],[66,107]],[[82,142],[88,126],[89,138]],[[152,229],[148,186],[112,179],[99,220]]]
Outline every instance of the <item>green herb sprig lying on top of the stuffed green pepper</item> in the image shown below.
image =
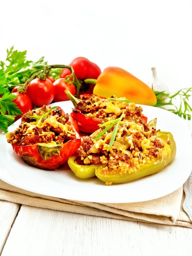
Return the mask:
[[107,132],[109,129],[112,128],[112,126],[115,125],[115,128],[112,132],[112,137],[110,139],[110,142],[109,142],[109,149],[112,147],[114,141],[115,141],[115,138],[116,138],[116,134],[117,134],[117,131],[118,131],[118,126],[119,126],[119,123],[120,121],[123,119],[124,117],[124,111],[123,113],[121,114],[121,117],[117,118],[117,119],[114,119],[114,120],[109,120],[107,122],[105,122],[104,124],[100,124],[99,127],[104,127],[104,126],[107,126],[104,130],[102,130],[95,138],[94,140],[96,139],[99,139],[105,132]]

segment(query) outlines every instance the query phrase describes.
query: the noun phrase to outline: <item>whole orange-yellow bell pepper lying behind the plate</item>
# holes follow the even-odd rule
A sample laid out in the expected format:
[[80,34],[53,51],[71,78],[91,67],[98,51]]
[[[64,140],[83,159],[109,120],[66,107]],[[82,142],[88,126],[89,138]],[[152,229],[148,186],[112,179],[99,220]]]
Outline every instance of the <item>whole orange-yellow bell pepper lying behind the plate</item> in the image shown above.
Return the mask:
[[[90,82],[88,80],[85,82]],[[137,104],[156,105],[154,91],[121,67],[106,67],[95,82],[93,93],[97,96],[108,98],[115,95],[118,98],[125,97],[128,101]]]

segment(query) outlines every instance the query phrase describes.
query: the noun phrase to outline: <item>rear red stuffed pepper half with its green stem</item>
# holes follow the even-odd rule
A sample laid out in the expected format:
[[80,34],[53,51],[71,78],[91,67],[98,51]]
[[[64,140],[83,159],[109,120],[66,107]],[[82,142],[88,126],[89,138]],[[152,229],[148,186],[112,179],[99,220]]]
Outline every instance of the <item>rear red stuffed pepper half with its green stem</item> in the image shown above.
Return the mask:
[[94,94],[83,94],[77,99],[69,91],[66,90],[65,93],[74,104],[71,116],[81,132],[93,133],[98,130],[99,124],[114,120],[123,112],[125,114],[123,119],[136,123],[147,121],[142,107],[130,103],[125,98],[117,99],[112,96],[106,99]]

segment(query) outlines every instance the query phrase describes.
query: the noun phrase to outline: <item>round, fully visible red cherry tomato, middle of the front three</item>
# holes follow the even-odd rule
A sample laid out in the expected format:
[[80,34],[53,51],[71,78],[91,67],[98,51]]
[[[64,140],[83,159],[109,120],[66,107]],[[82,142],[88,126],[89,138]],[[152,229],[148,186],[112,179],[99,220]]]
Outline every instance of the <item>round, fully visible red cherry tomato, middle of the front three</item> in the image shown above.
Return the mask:
[[27,95],[29,95],[32,104],[36,107],[49,105],[55,97],[55,88],[49,79],[33,79],[27,86]]

